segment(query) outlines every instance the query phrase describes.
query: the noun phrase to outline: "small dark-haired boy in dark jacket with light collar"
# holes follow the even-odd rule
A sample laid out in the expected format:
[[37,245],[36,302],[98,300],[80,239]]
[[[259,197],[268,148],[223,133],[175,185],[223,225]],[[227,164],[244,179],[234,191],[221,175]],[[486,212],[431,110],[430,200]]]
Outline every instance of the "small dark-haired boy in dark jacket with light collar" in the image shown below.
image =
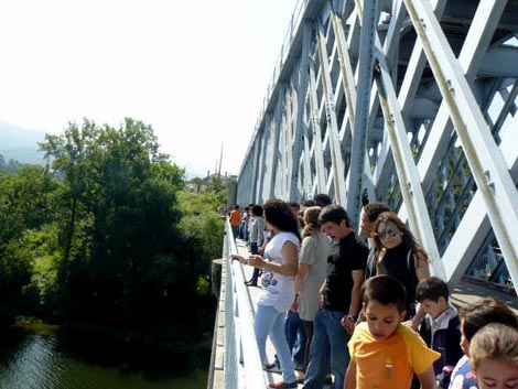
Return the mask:
[[428,313],[421,324],[421,335],[427,345],[441,353],[441,358],[433,363],[435,379],[442,388],[450,385],[450,376],[458,359],[461,349],[461,320],[457,310],[449,303],[447,284],[438,277],[419,281],[416,300]]

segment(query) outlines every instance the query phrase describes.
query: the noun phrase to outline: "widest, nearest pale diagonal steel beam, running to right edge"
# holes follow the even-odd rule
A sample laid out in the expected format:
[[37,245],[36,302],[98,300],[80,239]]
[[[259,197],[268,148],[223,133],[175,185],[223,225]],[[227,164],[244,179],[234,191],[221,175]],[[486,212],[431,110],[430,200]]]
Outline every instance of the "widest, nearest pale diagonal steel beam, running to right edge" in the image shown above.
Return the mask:
[[464,72],[428,1],[404,0],[481,191],[512,282],[518,284],[518,192]]

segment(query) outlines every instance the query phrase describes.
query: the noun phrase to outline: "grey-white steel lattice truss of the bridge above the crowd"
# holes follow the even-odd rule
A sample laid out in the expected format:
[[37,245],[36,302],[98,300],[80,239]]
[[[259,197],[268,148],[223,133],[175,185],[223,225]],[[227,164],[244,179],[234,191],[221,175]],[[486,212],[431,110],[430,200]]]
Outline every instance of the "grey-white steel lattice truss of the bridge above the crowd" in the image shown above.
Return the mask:
[[450,284],[518,285],[518,1],[300,0],[237,204],[387,202]]

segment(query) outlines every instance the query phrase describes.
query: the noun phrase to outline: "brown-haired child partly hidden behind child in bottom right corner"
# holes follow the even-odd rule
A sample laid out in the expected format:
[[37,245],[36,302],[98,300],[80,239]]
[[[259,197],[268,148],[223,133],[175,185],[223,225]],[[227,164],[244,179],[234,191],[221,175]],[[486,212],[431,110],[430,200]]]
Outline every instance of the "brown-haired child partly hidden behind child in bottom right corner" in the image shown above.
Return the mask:
[[515,313],[501,301],[486,298],[461,310],[461,348],[465,354],[453,369],[449,389],[477,388],[470,367],[470,342],[482,327],[489,323],[500,323],[518,328]]

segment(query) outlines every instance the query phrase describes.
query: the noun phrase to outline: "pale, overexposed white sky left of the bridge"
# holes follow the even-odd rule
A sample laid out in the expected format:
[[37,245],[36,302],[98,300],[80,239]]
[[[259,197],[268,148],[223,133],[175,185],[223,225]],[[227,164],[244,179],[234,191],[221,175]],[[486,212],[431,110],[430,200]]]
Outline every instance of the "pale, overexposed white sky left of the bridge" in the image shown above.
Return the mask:
[[0,120],[151,125],[187,176],[238,174],[298,0],[0,3]]

